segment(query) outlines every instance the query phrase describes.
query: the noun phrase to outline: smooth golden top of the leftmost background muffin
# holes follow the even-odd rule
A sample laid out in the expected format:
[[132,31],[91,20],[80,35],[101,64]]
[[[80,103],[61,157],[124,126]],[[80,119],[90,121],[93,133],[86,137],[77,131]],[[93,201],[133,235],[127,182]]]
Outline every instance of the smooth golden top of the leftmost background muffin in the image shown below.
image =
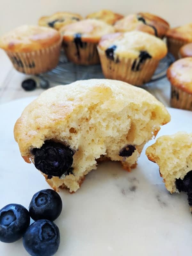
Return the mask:
[[61,39],[52,28],[23,25],[0,37],[0,48],[10,52],[31,52],[49,47]]

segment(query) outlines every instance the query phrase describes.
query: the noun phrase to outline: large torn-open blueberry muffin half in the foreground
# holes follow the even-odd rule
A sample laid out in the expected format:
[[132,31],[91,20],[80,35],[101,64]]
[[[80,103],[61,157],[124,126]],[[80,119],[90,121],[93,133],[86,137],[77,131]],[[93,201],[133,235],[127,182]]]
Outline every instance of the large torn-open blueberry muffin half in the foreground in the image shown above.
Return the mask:
[[103,158],[130,171],[145,143],[170,121],[150,93],[121,81],[81,80],[43,92],[14,127],[21,156],[50,186],[76,191]]

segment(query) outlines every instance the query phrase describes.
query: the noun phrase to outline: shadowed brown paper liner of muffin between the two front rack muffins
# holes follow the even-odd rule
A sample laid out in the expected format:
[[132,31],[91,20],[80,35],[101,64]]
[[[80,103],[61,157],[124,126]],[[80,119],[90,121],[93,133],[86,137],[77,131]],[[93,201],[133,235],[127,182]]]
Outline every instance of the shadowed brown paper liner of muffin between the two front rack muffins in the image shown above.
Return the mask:
[[63,43],[65,54],[69,61],[79,65],[93,65],[99,64],[99,55],[97,52],[97,44],[90,42],[75,42]]

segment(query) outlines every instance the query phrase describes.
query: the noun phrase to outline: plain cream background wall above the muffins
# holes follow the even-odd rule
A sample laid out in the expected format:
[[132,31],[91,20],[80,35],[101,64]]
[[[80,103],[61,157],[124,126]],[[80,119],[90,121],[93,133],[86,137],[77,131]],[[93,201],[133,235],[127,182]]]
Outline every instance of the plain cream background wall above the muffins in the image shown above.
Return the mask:
[[0,35],[22,24],[37,24],[40,16],[58,11],[86,14],[110,9],[124,15],[151,12],[171,26],[192,22],[192,0],[0,0]]

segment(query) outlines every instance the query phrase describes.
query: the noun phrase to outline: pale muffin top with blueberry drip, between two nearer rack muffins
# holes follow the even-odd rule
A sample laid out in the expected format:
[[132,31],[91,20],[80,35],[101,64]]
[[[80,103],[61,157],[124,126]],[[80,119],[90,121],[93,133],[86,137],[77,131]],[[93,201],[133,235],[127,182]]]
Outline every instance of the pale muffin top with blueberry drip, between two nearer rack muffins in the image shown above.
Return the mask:
[[101,36],[115,32],[115,29],[102,20],[87,19],[69,24],[60,29],[64,41],[73,41],[76,35],[82,41],[97,43]]

